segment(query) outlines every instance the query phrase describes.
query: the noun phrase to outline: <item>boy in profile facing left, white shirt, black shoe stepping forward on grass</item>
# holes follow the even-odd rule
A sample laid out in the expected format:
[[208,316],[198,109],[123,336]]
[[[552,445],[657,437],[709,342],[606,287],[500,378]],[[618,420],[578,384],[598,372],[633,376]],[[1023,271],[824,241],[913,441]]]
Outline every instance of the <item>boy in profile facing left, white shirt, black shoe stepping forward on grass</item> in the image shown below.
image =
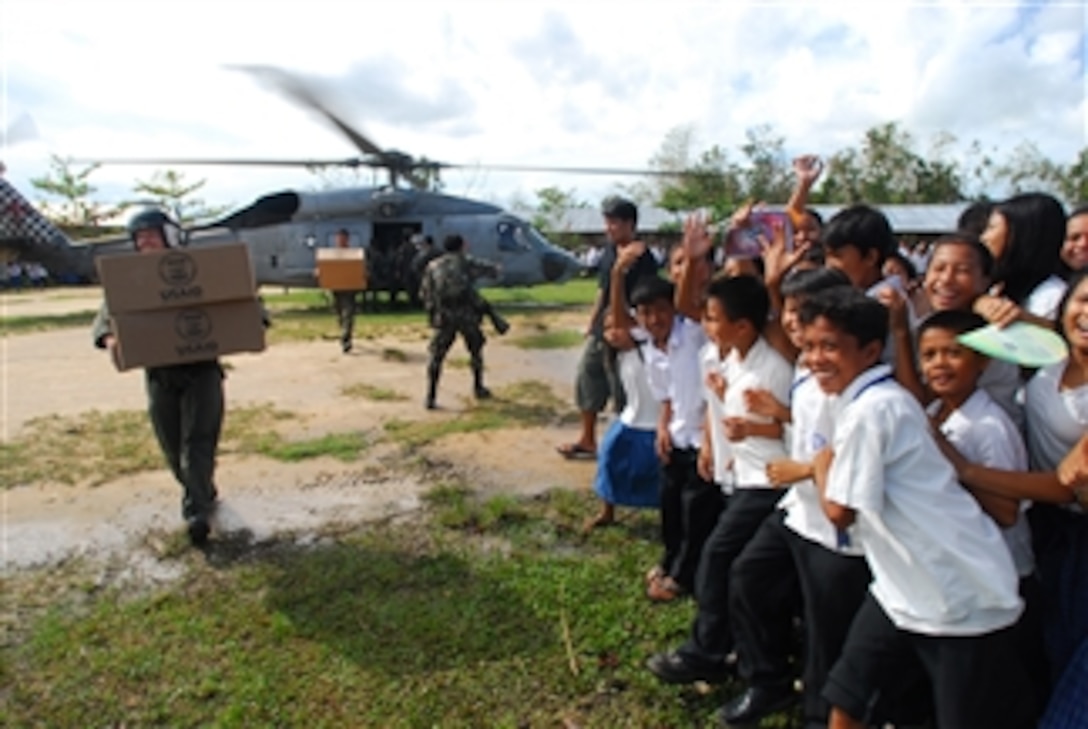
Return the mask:
[[[726,508],[703,546],[695,577],[698,613],[691,638],[678,650],[657,654],[647,662],[655,676],[669,683],[726,678],[733,648],[729,621],[729,573],[744,548],[780,498],[767,478],[767,462],[783,458],[782,423],[751,412],[744,393],[767,390],[784,400],[789,397],[793,368],[763,338],[770,300],[763,283],[753,276],[714,281],[707,291],[703,325],[726,358],[725,436],[728,444],[715,446],[714,457],[729,453],[735,486]],[[705,454],[700,455],[705,458]]]

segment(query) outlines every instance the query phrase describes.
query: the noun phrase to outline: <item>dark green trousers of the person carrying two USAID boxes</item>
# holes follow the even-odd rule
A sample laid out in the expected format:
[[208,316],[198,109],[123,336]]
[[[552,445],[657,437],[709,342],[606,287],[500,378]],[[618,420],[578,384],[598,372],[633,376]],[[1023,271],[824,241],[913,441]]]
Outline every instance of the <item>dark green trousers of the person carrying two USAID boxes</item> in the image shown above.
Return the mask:
[[162,455],[182,485],[182,517],[207,516],[215,503],[215,449],[223,427],[218,361],[146,371],[148,413]]

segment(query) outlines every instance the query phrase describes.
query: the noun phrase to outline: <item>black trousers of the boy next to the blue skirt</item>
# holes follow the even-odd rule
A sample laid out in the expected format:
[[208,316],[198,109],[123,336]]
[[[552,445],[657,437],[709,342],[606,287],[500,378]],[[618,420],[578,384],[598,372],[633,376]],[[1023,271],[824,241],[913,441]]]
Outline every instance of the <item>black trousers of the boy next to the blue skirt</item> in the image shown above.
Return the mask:
[[697,458],[695,448],[672,448],[662,467],[662,569],[696,593],[700,555],[724,506],[721,489],[700,478]]

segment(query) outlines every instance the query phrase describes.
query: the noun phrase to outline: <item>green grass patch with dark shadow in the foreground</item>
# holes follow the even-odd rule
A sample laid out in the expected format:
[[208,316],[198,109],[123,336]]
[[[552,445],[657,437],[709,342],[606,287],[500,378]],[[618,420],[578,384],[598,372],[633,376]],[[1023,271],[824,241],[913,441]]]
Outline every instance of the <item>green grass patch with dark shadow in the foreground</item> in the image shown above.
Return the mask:
[[184,579],[136,596],[60,593],[0,646],[0,722],[717,726],[721,693],[643,667],[692,614],[642,595],[655,515],[585,540],[585,494],[493,503],[472,508],[499,518],[467,526],[424,515],[319,546],[213,543],[177,557]]

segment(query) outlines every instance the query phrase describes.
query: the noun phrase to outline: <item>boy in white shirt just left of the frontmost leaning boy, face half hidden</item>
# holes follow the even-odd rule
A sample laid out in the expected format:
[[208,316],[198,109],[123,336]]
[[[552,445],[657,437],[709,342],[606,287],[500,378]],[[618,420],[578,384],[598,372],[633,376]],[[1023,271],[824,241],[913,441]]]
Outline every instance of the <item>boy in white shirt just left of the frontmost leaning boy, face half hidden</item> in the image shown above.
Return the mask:
[[[796,271],[786,279],[782,330],[798,350],[801,301],[832,286],[849,285],[845,274],[834,269]],[[786,408],[770,399],[769,393],[752,397],[767,413]],[[799,358],[789,407],[779,416],[790,421],[790,457],[767,466],[771,483],[790,489],[778,512],[764,521],[732,569],[729,609],[740,675],[747,689],[721,709],[722,720],[730,726],[756,724],[796,701],[792,595],[799,590],[804,626],[802,716],[807,724],[827,722],[830,706],[820,691],[871,580],[860,543],[831,524],[812,481],[813,457],[831,442],[829,409],[828,396]]]

